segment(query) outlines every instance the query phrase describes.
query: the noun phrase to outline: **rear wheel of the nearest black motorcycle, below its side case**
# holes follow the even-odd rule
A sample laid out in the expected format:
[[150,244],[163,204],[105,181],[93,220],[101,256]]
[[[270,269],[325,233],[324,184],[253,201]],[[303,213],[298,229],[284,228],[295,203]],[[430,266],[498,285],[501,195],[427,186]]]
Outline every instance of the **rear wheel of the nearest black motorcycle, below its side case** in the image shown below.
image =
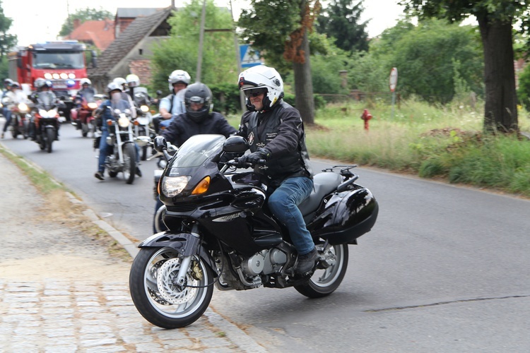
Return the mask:
[[323,258],[317,270],[305,285],[295,285],[295,289],[309,298],[326,297],[341,285],[348,268],[348,244],[328,245],[325,249],[317,245],[319,256]]

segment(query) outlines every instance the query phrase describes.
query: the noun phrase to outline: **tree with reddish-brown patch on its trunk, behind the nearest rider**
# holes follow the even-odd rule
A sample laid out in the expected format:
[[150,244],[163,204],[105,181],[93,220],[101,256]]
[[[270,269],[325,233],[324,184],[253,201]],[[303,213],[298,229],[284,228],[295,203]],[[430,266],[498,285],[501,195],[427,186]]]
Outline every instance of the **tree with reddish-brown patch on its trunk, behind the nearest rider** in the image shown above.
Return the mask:
[[309,35],[319,10],[318,0],[252,0],[238,21],[245,40],[259,49],[282,76],[282,64],[292,63],[295,104],[306,124],[314,124]]

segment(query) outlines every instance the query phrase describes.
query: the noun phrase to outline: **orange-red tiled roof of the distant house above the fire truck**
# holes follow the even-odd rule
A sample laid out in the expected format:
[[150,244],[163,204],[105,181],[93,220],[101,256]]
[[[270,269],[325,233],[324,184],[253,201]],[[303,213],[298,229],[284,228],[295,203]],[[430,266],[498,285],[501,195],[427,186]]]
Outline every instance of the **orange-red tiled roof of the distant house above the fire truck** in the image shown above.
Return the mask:
[[105,18],[105,20],[88,20],[81,23],[81,20],[76,18],[73,20],[73,31],[64,39],[78,40],[93,45],[103,52],[114,41],[114,22]]

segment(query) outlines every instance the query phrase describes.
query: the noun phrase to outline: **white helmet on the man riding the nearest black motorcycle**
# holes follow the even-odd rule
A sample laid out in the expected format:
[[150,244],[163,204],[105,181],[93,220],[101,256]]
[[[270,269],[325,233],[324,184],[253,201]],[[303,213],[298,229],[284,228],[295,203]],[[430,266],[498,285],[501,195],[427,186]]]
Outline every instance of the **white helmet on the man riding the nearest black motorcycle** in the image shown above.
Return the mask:
[[278,71],[269,66],[258,65],[247,68],[240,73],[238,85],[242,91],[266,88],[267,92],[263,99],[264,109],[272,107],[283,98],[283,80]]

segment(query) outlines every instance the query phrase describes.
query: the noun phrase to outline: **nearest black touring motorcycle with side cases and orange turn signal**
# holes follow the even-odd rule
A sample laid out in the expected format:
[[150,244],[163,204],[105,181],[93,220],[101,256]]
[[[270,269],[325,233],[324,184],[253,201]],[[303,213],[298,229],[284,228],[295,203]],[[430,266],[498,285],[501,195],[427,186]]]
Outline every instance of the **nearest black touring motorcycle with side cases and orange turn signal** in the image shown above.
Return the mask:
[[325,297],[346,274],[348,244],[357,244],[375,224],[379,206],[355,184],[355,166],[316,174],[314,191],[299,208],[319,257],[310,273],[298,275],[298,254],[267,210],[260,174],[236,169],[234,156],[248,147],[240,136],[196,135],[170,159],[165,139],[155,138],[155,149],[170,159],[158,185],[169,230],[139,245],[129,275],[134,305],[154,325],[194,323],[208,307],[213,285],[294,287],[306,297]]

